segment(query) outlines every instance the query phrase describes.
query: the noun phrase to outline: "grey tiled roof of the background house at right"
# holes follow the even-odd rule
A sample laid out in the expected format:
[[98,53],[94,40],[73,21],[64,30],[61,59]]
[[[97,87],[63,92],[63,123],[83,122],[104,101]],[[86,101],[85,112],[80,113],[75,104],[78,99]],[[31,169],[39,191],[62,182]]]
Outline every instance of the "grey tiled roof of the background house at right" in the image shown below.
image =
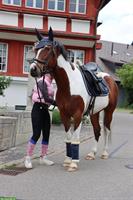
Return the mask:
[[116,81],[119,81],[115,71],[123,64],[133,61],[133,45],[103,40],[100,42],[102,48],[96,51],[96,62],[102,71],[109,73]]

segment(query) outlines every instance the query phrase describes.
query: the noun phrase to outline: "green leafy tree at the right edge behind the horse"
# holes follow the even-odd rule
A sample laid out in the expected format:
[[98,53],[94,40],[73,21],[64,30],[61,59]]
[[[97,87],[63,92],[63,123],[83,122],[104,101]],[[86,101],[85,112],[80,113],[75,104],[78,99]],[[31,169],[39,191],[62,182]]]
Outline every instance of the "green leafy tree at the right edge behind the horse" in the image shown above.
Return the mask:
[[127,92],[128,104],[133,104],[133,62],[124,64],[122,68],[116,71],[116,74]]

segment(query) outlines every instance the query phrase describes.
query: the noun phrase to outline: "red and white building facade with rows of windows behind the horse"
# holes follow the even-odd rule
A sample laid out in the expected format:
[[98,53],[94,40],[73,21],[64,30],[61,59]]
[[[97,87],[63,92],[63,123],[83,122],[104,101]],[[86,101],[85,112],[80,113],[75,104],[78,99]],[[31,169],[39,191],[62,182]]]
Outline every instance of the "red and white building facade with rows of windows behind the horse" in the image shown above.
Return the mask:
[[97,18],[110,0],[1,0],[0,75],[12,77],[0,106],[27,104],[28,55],[36,41],[35,28],[46,36],[51,26],[55,38],[82,63],[95,61]]

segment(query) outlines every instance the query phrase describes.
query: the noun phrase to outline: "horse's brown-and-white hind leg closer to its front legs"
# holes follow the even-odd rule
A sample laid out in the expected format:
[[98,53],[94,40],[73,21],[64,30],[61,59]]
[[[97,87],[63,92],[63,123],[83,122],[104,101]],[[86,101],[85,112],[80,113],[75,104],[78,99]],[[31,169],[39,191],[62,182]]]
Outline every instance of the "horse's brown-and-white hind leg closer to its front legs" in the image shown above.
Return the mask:
[[95,159],[95,155],[97,153],[97,145],[98,145],[100,131],[101,131],[101,127],[99,124],[99,113],[91,115],[90,119],[91,119],[91,123],[93,126],[95,140],[94,140],[94,146],[93,146],[91,152],[88,153],[87,156],[85,157],[86,160],[94,160]]

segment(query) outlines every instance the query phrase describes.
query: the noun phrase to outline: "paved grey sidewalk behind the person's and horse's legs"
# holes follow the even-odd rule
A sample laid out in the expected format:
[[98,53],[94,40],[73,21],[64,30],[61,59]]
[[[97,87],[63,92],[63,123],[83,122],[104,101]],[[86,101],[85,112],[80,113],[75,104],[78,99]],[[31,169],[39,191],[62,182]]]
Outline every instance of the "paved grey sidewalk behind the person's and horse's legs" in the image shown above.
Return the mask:
[[[92,127],[88,125],[87,126],[83,125],[80,134],[81,142],[88,140],[92,136],[93,136]],[[65,151],[64,139],[65,139],[64,127],[62,125],[61,126],[52,125],[48,154],[58,154],[64,152]],[[34,151],[33,159],[38,158],[40,156],[40,146],[41,146],[41,141],[39,140]],[[21,164],[24,161],[24,157],[26,155],[26,147],[27,143],[0,152],[0,168],[3,168],[4,166]]]

